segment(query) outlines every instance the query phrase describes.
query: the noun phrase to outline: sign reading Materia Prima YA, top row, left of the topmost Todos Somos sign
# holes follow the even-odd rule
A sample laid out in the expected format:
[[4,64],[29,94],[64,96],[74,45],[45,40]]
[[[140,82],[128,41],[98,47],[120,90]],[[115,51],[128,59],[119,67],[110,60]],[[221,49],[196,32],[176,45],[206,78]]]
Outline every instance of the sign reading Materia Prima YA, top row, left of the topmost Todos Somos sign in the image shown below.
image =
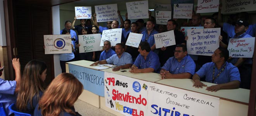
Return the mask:
[[191,19],[192,18],[192,3],[174,4],[173,18],[174,19]]

